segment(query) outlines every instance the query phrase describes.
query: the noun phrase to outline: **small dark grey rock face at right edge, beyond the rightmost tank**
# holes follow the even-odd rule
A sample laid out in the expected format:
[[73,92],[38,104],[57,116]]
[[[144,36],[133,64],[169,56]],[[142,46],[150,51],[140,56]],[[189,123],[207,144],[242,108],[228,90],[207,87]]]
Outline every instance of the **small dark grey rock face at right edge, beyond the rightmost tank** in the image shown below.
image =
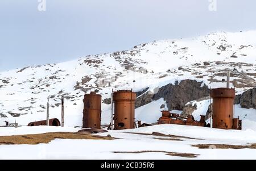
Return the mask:
[[256,109],[256,88],[245,91],[240,97],[240,105],[246,109]]

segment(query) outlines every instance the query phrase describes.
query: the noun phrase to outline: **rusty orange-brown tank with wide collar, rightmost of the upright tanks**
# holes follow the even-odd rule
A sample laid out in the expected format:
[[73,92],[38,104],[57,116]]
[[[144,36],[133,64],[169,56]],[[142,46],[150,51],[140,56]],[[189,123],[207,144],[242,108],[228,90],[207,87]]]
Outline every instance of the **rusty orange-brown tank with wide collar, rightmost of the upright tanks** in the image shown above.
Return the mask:
[[234,119],[235,90],[228,88],[212,89],[213,128],[232,129]]

